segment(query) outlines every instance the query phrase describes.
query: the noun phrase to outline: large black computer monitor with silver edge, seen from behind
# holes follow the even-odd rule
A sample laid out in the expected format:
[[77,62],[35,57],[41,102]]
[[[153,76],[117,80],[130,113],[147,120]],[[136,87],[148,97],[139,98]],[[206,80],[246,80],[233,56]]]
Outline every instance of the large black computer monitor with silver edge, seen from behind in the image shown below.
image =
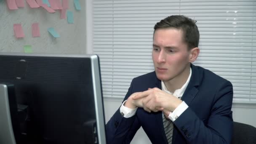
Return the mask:
[[105,144],[99,57],[0,53],[0,143]]

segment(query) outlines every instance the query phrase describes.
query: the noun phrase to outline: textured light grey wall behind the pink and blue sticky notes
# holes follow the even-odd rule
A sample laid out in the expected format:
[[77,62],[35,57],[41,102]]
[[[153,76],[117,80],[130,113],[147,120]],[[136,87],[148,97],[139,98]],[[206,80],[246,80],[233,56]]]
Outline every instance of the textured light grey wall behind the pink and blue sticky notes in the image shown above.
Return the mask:
[[[24,45],[32,45],[34,53],[86,53],[85,0],[80,0],[81,10],[75,10],[74,0],[69,0],[68,11],[72,11],[74,24],[60,19],[60,10],[48,13],[44,8],[30,8],[24,0],[24,8],[9,10],[6,0],[0,0],[0,52],[24,52]],[[32,37],[32,23],[38,22],[40,37]],[[24,38],[16,38],[13,24],[20,23]],[[59,33],[54,38],[49,27]]]

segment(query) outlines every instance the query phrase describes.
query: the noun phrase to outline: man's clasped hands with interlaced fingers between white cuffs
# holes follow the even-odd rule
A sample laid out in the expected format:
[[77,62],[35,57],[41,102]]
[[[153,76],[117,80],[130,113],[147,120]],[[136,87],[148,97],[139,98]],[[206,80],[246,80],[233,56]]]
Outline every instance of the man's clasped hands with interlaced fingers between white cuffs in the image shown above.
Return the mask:
[[125,102],[125,107],[135,109],[136,107],[144,108],[147,112],[163,111],[168,117],[176,107],[181,104],[181,100],[171,94],[168,94],[159,88],[149,88],[147,91],[136,92]]

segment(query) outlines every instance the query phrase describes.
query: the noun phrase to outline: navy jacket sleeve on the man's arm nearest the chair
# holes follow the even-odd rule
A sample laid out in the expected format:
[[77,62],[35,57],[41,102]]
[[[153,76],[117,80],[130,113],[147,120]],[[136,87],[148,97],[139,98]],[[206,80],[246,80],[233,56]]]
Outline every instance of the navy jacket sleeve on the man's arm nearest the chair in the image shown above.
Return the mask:
[[232,140],[233,88],[229,81],[219,85],[208,122],[188,107],[174,124],[189,144],[230,144]]

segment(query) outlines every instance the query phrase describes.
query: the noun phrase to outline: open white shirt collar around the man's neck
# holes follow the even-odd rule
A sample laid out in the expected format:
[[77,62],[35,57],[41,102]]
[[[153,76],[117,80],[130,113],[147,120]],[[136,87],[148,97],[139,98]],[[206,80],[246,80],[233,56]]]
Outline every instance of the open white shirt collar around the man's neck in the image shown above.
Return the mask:
[[185,92],[187,85],[189,84],[189,80],[191,78],[192,75],[192,69],[190,67],[190,73],[189,73],[189,77],[187,78],[186,83],[184,83],[184,85],[180,88],[174,91],[174,93],[171,93],[170,91],[168,91],[168,89],[165,86],[165,83],[163,82],[163,80],[161,80],[161,85],[162,85],[162,90],[165,91],[166,93],[172,94],[173,96],[178,97],[182,97],[183,93]]

